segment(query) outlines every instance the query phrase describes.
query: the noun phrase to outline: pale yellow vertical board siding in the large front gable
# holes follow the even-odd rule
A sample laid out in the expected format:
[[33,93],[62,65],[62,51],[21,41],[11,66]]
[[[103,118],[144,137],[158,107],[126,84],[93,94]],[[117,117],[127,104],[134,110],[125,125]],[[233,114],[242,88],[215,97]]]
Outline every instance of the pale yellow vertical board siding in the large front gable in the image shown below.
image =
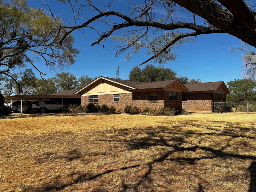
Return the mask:
[[131,93],[130,91],[127,91],[128,89],[131,88],[105,79],[99,79],[99,81],[96,81],[91,86],[83,90],[81,96]]

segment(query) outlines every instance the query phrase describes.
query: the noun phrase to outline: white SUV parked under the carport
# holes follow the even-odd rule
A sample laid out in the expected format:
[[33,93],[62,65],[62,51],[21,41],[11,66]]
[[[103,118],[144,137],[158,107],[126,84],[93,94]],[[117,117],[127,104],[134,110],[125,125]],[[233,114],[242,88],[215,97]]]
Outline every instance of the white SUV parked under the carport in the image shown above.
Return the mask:
[[67,105],[59,104],[56,101],[50,101],[45,100],[43,103],[43,100],[35,101],[32,104],[32,110],[39,111],[40,113],[45,113],[46,110],[62,110],[62,108],[65,108]]

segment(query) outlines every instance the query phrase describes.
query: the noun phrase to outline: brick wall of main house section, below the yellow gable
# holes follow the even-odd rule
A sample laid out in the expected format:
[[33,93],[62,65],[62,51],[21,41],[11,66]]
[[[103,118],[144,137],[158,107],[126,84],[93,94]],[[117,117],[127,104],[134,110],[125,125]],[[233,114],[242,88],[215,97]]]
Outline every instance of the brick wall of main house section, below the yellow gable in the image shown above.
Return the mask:
[[[178,101],[169,101],[168,91],[157,91],[157,101],[148,101],[148,91],[119,94],[119,102],[113,102],[113,94],[99,95],[99,105],[113,105],[116,110],[123,111],[126,105],[137,106],[141,110],[146,107],[152,109],[159,107],[182,108],[182,93],[178,93]],[[82,105],[89,103],[89,96],[81,96]]]

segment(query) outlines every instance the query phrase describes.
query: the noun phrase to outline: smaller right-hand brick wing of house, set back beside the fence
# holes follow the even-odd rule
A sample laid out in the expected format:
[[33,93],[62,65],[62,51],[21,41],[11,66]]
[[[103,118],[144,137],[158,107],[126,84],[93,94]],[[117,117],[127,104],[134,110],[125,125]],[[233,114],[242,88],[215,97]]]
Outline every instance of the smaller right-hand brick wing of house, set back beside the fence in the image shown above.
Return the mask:
[[212,111],[214,102],[226,102],[226,95],[230,94],[223,81],[184,84],[188,89],[182,93],[182,109],[189,111]]

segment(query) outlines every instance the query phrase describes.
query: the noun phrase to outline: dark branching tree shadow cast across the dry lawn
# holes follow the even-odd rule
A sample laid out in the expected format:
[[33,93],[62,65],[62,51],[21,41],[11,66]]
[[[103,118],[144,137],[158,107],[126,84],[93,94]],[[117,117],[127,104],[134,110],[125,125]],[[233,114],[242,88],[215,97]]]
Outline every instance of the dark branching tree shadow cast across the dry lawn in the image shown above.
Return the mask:
[[[186,122],[186,125],[189,125],[191,123],[193,123],[195,127],[200,127],[199,122]],[[217,125],[220,123],[223,124],[227,122],[217,122]],[[197,130],[193,132],[193,131],[183,130],[182,127],[183,126],[170,127],[170,128],[165,126],[158,126],[158,127],[149,126],[149,127],[142,127],[141,129],[138,129],[136,127],[134,129],[125,128],[123,130],[118,130],[116,131],[115,134],[112,134],[110,136],[105,136],[102,140],[98,140],[98,141],[113,142],[113,146],[115,146],[116,143],[120,143],[123,146],[125,146],[127,150],[131,150],[131,151],[140,150],[140,149],[147,150],[154,146],[165,146],[165,147],[168,147],[167,149],[171,149],[171,150],[167,150],[158,155],[152,154],[154,158],[152,158],[152,160],[148,163],[138,163],[130,166],[120,166],[118,168],[105,170],[97,174],[94,174],[92,172],[87,172],[87,173],[76,172],[76,173],[72,173],[72,176],[74,175],[77,175],[77,176],[69,182],[62,183],[60,180],[57,179],[53,183],[44,183],[39,188],[34,188],[33,186],[27,186],[26,188],[24,188],[24,191],[38,191],[39,189],[41,191],[62,190],[70,185],[94,180],[103,175],[112,173],[116,170],[133,169],[141,166],[146,166],[147,171],[139,177],[138,181],[135,184],[128,185],[122,182],[123,191],[127,191],[129,189],[138,191],[138,188],[141,185],[147,186],[148,191],[153,191],[153,187],[152,187],[153,181],[150,177],[150,174],[152,172],[152,169],[154,168],[154,165],[156,165],[157,163],[161,163],[165,160],[168,160],[168,161],[175,161],[180,163],[186,162],[188,164],[193,164],[193,163],[196,163],[196,161],[201,159],[214,159],[214,158],[222,158],[222,159],[238,158],[238,159],[253,160],[254,162],[248,168],[251,175],[251,184],[248,192],[252,192],[256,190],[256,187],[255,187],[256,157],[251,155],[242,155],[242,154],[229,153],[224,151],[227,147],[230,146],[229,142],[233,138],[245,137],[249,139],[254,139],[255,137],[248,137],[244,135],[246,131],[251,130],[250,127],[241,127],[241,126],[239,127],[237,124],[234,125],[232,123],[228,123],[226,126],[227,129],[223,129],[223,127],[220,127],[223,130],[218,130],[217,129],[218,127],[215,126],[216,128],[215,130],[215,128],[212,128],[210,126],[205,126],[205,125],[201,126],[206,131],[208,130],[210,132],[197,132]],[[228,129],[237,130],[237,133],[235,133],[234,131],[232,132]],[[166,133],[168,135],[163,136],[163,134],[166,134]],[[141,137],[141,134],[145,136]],[[202,146],[201,144],[199,145],[196,143],[189,143],[186,141],[188,137],[195,137],[195,136],[200,137],[201,135],[230,136],[231,139],[227,142],[227,145],[222,147],[221,149],[216,149],[214,147],[209,147],[209,146]],[[186,145],[184,146],[183,144],[186,144]],[[207,155],[201,155],[199,157],[187,157],[187,156],[174,157],[174,158],[171,157],[171,155],[175,152],[196,152],[197,150],[204,151]],[[77,155],[77,153],[78,153],[78,150],[73,150],[69,152],[69,155],[71,156],[70,158],[71,161],[73,159],[81,157],[82,154],[79,153],[79,155]],[[69,176],[70,175],[67,175],[67,177]],[[147,182],[147,185],[145,184],[146,182]],[[108,185],[108,184],[105,184],[105,185]],[[204,191],[203,186],[201,184],[198,184],[198,192],[199,191]]]

